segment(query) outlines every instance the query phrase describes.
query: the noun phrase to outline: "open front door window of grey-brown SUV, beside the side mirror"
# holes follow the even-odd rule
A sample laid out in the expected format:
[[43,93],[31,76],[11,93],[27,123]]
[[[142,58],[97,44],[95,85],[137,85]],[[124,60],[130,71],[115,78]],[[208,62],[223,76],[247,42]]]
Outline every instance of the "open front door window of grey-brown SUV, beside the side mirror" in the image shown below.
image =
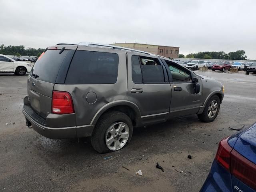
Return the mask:
[[170,61],[165,60],[166,64],[168,65],[170,72],[172,74],[172,81],[173,82],[190,82],[190,74],[183,70],[182,68],[176,66]]

